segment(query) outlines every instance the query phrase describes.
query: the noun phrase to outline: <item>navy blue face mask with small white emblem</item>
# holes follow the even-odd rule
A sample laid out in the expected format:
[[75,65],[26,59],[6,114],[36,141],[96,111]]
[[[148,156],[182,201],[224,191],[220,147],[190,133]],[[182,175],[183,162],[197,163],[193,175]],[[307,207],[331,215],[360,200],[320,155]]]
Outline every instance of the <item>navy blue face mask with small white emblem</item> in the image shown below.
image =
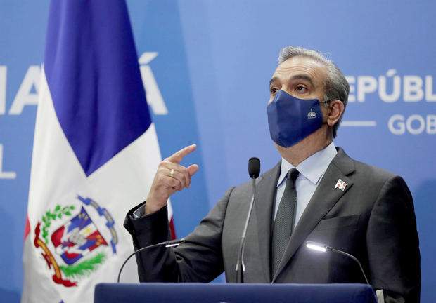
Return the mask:
[[271,139],[281,147],[291,147],[323,125],[319,100],[302,100],[278,90],[268,105]]

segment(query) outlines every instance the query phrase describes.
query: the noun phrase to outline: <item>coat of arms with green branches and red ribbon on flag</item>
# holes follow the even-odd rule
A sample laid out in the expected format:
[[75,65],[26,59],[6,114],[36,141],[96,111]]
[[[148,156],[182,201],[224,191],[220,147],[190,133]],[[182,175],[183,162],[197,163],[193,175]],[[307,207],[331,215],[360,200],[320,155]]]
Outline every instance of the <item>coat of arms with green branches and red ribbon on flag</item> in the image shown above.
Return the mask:
[[75,203],[47,210],[35,228],[34,246],[41,248],[49,270],[54,271],[53,281],[77,286],[77,281],[107,260],[108,253],[115,254],[117,233],[113,225],[108,210],[90,198],[77,196]]

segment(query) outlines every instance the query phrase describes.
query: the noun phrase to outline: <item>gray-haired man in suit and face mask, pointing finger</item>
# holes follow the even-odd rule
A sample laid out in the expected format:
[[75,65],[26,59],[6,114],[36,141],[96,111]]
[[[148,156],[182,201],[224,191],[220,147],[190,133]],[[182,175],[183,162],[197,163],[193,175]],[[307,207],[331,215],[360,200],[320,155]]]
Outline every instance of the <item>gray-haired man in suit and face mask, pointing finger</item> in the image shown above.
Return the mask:
[[[278,59],[268,119],[282,159],[256,182],[244,281],[365,283],[353,260],[304,245],[316,241],[357,257],[386,302],[419,302],[420,255],[409,189],[401,177],[354,161],[333,144],[347,105],[345,77],[315,50],[290,46]],[[169,239],[167,199],[189,187],[198,166],[179,162],[194,149],[162,161],[147,201],[127,214],[124,226],[135,249]],[[226,281],[235,282],[251,199],[251,182],[232,187],[185,243],[137,255],[140,281],[207,282],[225,271]]]

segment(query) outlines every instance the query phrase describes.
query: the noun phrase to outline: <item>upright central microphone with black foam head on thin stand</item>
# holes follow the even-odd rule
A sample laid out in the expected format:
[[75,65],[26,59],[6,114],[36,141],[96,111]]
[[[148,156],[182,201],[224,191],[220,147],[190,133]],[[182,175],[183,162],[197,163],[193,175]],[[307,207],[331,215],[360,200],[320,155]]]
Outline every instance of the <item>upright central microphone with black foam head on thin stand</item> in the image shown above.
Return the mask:
[[238,283],[244,282],[244,272],[245,272],[245,264],[244,264],[244,248],[245,248],[245,236],[247,235],[248,222],[250,222],[250,216],[252,212],[253,205],[255,203],[256,198],[256,178],[259,177],[260,173],[260,160],[259,158],[253,157],[248,160],[248,175],[253,180],[253,198],[250,203],[250,207],[248,208],[247,218],[245,219],[245,225],[241,236],[241,243],[239,244],[239,254],[238,254],[238,262],[236,262],[236,281]]

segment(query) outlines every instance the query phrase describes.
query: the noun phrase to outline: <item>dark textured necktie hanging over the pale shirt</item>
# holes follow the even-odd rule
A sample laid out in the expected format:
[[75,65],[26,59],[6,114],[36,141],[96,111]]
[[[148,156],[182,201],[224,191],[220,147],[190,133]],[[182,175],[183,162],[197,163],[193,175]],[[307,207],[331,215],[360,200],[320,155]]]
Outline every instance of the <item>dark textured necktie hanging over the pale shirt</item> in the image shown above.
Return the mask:
[[271,242],[271,277],[277,271],[278,264],[285,253],[290,234],[292,234],[295,220],[295,205],[297,203],[297,191],[295,190],[295,180],[299,172],[292,168],[286,175],[286,187],[278,206],[276,220],[274,221],[272,242]]

